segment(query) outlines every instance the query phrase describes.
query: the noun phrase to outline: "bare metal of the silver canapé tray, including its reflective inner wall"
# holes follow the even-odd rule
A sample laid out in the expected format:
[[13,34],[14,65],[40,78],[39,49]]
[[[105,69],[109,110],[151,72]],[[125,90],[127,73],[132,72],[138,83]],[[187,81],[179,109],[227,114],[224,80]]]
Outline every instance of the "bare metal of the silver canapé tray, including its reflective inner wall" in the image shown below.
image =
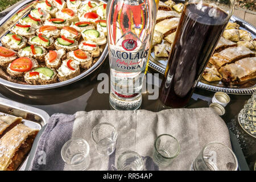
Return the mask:
[[[105,2],[102,0],[95,0],[95,2],[100,3],[100,2]],[[7,14],[1,21],[0,21],[0,26],[1,28],[1,32],[3,31],[3,27],[8,27],[8,30],[16,23],[18,22],[18,20],[20,18],[23,18],[24,16],[26,16],[28,14],[28,12],[30,12],[30,10],[32,9],[32,6],[30,6],[31,3],[34,3],[34,1],[32,0],[27,0],[24,1],[23,3],[20,3],[20,5],[18,5],[17,7],[15,7],[15,9],[13,9],[12,11],[10,11],[9,14]],[[23,10],[22,15],[18,15],[19,17],[17,18],[17,12],[22,10],[24,8],[24,6],[26,7],[25,10]],[[6,34],[7,32],[5,32]],[[1,38],[5,35],[2,34]],[[0,39],[1,39],[0,38]],[[22,89],[22,90],[43,90],[43,89],[52,89],[52,88],[57,88],[60,86],[64,86],[64,85],[68,85],[71,84],[73,82],[76,82],[78,80],[81,80],[82,78],[90,75],[91,73],[93,73],[97,68],[99,68],[102,63],[104,63],[104,60],[106,59],[106,57],[108,56],[108,47],[105,44],[105,47],[103,47],[103,51],[100,55],[100,57],[98,57],[97,61],[95,64],[92,65],[92,67],[90,67],[89,69],[85,69],[84,71],[82,71],[80,73],[80,75],[71,78],[69,80],[65,80],[65,81],[61,81],[61,82],[56,82],[54,84],[48,84],[48,85],[25,85],[25,84],[18,84],[15,82],[11,82],[11,81],[7,81],[3,78],[0,78],[0,84],[5,85],[9,88],[15,88],[15,89]]]

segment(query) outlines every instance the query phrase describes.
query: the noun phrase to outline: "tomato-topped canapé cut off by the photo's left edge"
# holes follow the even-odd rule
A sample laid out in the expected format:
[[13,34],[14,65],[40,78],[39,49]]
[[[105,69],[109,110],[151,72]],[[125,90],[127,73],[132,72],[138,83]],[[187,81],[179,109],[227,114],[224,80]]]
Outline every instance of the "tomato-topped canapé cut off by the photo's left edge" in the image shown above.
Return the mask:
[[1,67],[3,68],[8,67],[8,65],[16,58],[17,58],[16,51],[0,46],[0,66]]

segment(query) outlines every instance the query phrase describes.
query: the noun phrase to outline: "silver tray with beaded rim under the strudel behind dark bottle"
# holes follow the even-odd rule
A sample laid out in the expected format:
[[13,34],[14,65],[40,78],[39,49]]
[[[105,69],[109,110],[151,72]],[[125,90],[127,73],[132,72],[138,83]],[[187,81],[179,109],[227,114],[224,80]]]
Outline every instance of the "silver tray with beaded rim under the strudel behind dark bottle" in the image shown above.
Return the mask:
[[[176,3],[182,3],[184,1],[175,1]],[[236,16],[232,16],[230,18],[230,22],[236,22],[240,25],[241,30],[246,30],[250,32],[251,36],[255,39],[256,38],[256,28],[247,23],[245,20],[237,18]],[[148,62],[148,66],[154,71],[164,74],[166,69],[168,59],[167,57],[156,57],[154,52],[151,51],[150,60]],[[208,82],[203,77],[197,84],[198,88],[210,90],[210,91],[222,91],[226,93],[232,94],[252,94],[256,90],[256,80],[249,80],[243,84],[224,84],[222,81],[212,81]]]

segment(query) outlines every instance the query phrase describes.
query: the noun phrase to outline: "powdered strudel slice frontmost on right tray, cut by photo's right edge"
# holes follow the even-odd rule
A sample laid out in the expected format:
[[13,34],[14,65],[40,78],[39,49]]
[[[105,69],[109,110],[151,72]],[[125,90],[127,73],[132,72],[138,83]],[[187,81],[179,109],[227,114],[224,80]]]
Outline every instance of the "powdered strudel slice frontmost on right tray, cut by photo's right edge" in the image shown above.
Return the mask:
[[221,67],[219,72],[222,74],[224,82],[247,81],[256,77],[256,57],[246,57],[236,63]]

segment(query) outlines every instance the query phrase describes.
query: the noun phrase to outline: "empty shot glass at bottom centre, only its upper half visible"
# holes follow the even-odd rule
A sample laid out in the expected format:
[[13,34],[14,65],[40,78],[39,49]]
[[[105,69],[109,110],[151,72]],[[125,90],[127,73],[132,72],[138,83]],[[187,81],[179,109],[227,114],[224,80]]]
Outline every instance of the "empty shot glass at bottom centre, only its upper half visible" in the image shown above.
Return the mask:
[[125,151],[117,159],[118,171],[143,171],[141,155],[134,151]]

